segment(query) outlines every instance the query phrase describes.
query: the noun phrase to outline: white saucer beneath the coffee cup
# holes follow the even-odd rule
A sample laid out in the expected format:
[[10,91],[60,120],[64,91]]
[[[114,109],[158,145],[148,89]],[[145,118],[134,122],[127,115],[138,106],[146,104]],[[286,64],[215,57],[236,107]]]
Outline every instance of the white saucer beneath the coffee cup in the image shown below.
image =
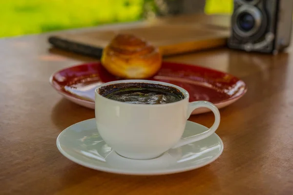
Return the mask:
[[[206,127],[187,121],[182,137],[204,132]],[[170,132],[171,133],[171,132]],[[223,152],[223,142],[213,133],[206,139],[170,149],[150,160],[133,160],[120,156],[104,142],[95,119],[76,123],[63,130],[57,138],[59,151],[84,167],[121,174],[154,175],[189,171],[216,160]]]

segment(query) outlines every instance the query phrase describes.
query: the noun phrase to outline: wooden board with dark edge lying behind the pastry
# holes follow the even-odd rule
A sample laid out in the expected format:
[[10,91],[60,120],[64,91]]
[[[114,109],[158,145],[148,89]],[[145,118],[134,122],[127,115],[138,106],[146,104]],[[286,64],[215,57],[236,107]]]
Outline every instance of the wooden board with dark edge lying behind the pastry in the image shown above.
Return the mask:
[[51,36],[56,47],[100,57],[103,48],[118,33],[131,33],[159,47],[164,56],[226,45],[230,18],[217,15],[188,15],[138,22],[135,25],[111,25],[84,32]]

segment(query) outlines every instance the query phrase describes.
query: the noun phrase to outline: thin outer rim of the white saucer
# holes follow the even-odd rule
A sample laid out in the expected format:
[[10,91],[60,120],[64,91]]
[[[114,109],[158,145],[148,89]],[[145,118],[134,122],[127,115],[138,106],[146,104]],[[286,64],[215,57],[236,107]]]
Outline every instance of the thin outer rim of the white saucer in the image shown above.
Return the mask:
[[[221,149],[220,149],[220,152],[215,155],[211,160],[208,160],[206,161],[205,163],[203,164],[200,164],[200,165],[195,165],[195,166],[188,166],[188,168],[178,168],[178,169],[172,169],[170,171],[168,170],[162,170],[162,171],[131,171],[131,170],[127,170],[127,171],[124,171],[122,169],[117,169],[117,168],[108,168],[108,167],[102,167],[102,166],[93,166],[93,165],[90,165],[89,163],[86,163],[84,161],[81,161],[79,159],[76,159],[75,157],[73,157],[72,155],[69,155],[67,154],[66,152],[63,151],[63,149],[61,148],[60,146],[60,137],[63,135],[63,133],[66,131],[66,130],[69,130],[72,126],[74,125],[77,125],[79,123],[83,123],[83,122],[86,122],[86,121],[90,121],[90,120],[95,120],[95,118],[91,118],[91,119],[87,119],[87,120],[84,120],[84,121],[80,121],[78,123],[75,123],[73,125],[70,125],[69,127],[67,127],[66,129],[64,129],[57,137],[56,139],[56,145],[57,145],[57,148],[59,150],[59,152],[62,153],[63,156],[65,156],[67,159],[71,160],[72,162],[74,163],[77,163],[81,166],[84,166],[84,167],[87,167],[87,168],[90,168],[90,169],[93,169],[93,170],[97,170],[97,171],[102,171],[102,172],[107,172],[107,173],[116,173],[116,174],[125,174],[125,175],[164,175],[164,174],[173,174],[173,173],[183,173],[183,172],[187,172],[187,171],[191,171],[191,170],[194,170],[194,169],[198,169],[198,168],[201,168],[201,167],[204,167],[210,163],[212,163],[213,161],[215,161],[217,158],[219,158],[219,156],[223,153],[224,151],[224,143],[222,141],[222,139],[214,132],[213,134],[217,136],[217,138],[219,139],[220,141],[220,145],[221,145]],[[187,121],[187,123],[195,123],[195,122],[192,122],[192,121]],[[198,124],[198,123],[195,123],[197,125],[200,125],[202,127],[205,127],[201,124]],[[205,127],[207,128],[207,127]],[[207,128],[208,129],[208,128]],[[213,135],[212,134],[212,135]],[[180,148],[180,147],[179,147]],[[106,162],[105,162],[106,163]]]

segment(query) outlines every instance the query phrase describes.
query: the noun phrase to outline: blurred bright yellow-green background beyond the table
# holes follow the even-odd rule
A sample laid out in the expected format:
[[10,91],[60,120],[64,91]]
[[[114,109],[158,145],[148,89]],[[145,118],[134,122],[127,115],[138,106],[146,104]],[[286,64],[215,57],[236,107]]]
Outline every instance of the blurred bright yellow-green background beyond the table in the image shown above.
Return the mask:
[[[143,18],[145,0],[1,0],[0,37],[131,22]],[[205,12],[232,12],[233,0],[207,0]]]

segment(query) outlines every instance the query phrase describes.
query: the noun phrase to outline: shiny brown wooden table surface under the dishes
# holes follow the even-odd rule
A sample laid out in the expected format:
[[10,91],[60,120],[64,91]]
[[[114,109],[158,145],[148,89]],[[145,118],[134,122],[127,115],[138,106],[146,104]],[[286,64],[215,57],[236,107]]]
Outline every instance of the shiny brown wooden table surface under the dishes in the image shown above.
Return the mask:
[[[62,98],[49,77],[95,59],[50,49],[46,39],[0,40],[0,195],[293,194],[293,48],[276,56],[221,48],[166,58],[229,72],[248,92],[220,110],[216,132],[225,149],[216,161],[185,173],[127,176],[85,168],[57,150],[58,134],[94,118],[94,110]],[[214,119],[189,120],[209,126]]]

